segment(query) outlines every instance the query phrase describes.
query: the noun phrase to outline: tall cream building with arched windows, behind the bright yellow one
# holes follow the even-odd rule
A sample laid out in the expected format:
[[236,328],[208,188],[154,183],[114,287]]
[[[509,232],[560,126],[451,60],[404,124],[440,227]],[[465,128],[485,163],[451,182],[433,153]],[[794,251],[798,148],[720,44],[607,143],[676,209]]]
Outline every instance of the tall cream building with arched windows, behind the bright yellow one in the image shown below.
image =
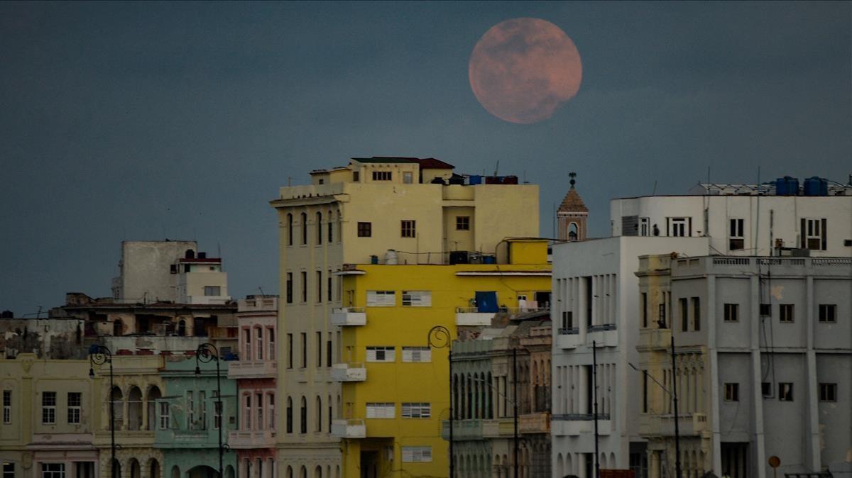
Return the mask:
[[[279,218],[278,463],[290,472],[328,476],[341,464],[329,427],[308,426],[331,407],[340,418],[341,387],[331,364],[342,360],[338,272],[344,264],[449,264],[505,254],[504,239],[538,236],[538,186],[516,178],[453,174],[435,159],[354,158],[311,173],[311,185],[283,187],[271,202]],[[314,397],[321,397],[320,401]],[[295,426],[288,430],[285,417]],[[279,467],[287,476],[288,468]],[[288,476],[289,478],[289,476]]]

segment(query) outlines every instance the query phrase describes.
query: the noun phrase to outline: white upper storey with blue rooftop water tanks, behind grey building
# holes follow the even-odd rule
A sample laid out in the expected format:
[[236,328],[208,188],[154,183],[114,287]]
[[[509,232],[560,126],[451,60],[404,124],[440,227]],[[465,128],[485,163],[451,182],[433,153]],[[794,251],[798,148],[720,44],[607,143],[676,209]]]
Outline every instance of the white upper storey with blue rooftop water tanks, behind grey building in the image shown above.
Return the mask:
[[686,196],[613,199],[613,236],[710,238],[711,253],[852,255],[852,185],[831,196],[774,196],[774,187],[696,185]]

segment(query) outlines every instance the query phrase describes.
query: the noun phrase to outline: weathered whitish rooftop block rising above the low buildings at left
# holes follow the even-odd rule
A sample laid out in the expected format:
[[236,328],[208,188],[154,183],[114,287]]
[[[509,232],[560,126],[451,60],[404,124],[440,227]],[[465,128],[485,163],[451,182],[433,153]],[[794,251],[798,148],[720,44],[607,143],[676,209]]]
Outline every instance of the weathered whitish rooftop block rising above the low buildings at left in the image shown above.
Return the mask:
[[127,304],[224,304],[231,297],[222,259],[199,253],[195,241],[123,241],[112,299]]

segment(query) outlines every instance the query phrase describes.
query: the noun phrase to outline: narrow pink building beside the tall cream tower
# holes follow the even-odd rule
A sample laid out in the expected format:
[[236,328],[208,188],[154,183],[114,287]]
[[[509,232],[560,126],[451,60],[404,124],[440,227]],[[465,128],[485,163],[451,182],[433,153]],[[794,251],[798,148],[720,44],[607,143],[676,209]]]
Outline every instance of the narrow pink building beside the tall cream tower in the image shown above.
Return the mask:
[[239,478],[273,478],[275,469],[275,324],[278,296],[239,299],[239,361],[227,376],[237,380],[239,427],[227,444],[237,452]]

